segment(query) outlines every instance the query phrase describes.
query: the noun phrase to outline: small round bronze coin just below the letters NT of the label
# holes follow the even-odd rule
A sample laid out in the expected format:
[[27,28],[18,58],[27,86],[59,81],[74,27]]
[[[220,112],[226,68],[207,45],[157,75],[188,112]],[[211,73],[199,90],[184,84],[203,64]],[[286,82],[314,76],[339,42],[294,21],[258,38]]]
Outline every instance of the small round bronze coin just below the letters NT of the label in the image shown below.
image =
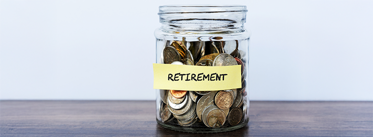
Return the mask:
[[233,96],[230,92],[219,91],[215,96],[215,104],[220,109],[228,109],[233,103]]

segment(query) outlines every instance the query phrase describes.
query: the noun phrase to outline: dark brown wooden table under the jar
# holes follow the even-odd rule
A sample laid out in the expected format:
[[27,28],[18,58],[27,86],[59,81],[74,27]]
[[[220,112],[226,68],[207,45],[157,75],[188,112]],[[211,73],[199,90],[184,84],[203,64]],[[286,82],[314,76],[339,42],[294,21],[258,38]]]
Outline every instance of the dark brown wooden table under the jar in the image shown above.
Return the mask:
[[220,133],[162,128],[155,101],[2,100],[0,136],[373,136],[372,101],[250,101],[249,123]]

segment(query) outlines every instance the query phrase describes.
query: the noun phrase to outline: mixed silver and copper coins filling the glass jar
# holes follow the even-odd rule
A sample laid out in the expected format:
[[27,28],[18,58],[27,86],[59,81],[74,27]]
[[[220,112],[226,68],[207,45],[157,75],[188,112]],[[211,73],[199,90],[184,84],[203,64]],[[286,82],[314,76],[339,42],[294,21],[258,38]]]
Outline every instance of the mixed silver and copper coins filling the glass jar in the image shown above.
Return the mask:
[[241,65],[241,88],[220,91],[185,91],[160,89],[160,117],[164,123],[181,126],[233,126],[246,114],[245,52],[239,41],[166,41],[162,63],[180,65]]

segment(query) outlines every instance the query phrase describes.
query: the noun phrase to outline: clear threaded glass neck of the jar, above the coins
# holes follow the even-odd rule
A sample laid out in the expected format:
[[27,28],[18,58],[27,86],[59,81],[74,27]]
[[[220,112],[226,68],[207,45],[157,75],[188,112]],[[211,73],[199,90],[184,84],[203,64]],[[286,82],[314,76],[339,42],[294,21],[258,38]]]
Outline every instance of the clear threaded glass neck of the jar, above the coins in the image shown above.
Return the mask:
[[166,29],[236,29],[246,22],[246,6],[160,6],[159,20]]

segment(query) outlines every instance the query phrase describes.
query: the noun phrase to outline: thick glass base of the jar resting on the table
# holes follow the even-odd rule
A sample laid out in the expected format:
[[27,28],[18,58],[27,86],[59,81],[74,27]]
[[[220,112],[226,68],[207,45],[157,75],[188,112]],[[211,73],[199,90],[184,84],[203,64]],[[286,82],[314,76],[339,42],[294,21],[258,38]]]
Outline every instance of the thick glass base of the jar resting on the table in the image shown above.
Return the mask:
[[180,125],[170,125],[167,123],[164,123],[158,119],[157,123],[161,125],[163,128],[172,129],[176,131],[183,131],[183,132],[193,132],[193,133],[213,133],[213,132],[225,132],[225,131],[231,131],[235,130],[241,127],[244,127],[248,122],[249,118],[247,118],[247,121],[243,121],[237,125],[230,126],[230,127],[220,127],[220,128],[211,128],[211,127],[193,127],[193,126],[180,126]]

